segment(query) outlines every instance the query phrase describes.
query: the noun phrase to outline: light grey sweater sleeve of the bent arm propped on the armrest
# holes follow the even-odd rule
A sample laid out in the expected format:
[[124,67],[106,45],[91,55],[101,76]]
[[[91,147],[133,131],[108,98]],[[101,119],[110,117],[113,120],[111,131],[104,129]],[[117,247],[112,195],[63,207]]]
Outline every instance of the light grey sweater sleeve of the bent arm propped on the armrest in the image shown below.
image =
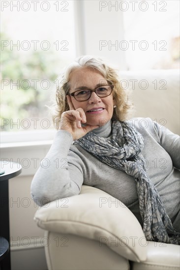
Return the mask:
[[37,205],[79,194],[83,184],[81,159],[70,151],[73,138],[58,131],[31,183],[31,197]]

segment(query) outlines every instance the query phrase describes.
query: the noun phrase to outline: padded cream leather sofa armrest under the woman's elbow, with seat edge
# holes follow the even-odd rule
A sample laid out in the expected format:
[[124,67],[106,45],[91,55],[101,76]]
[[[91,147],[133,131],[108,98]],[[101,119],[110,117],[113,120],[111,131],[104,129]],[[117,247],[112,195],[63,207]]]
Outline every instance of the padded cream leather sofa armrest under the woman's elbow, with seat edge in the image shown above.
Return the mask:
[[49,270],[180,269],[180,246],[147,242],[130,210],[100,189],[82,186],[34,218],[46,230]]

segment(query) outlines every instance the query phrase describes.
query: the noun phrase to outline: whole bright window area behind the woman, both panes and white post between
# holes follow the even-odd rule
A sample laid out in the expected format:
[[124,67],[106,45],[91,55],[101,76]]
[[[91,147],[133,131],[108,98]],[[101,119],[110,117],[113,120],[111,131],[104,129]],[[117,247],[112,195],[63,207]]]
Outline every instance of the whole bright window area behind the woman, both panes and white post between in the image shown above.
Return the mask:
[[178,0],[2,1],[1,131],[7,141],[21,131],[30,139],[33,131],[54,131],[46,105],[61,68],[76,54],[105,56],[120,70],[179,68],[179,5]]

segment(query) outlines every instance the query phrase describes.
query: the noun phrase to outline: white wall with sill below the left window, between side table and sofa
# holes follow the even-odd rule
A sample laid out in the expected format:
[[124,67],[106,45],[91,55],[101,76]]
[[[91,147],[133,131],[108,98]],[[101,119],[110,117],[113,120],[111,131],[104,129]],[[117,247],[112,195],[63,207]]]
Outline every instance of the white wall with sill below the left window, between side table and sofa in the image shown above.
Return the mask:
[[[26,144],[26,145],[25,145]],[[28,145],[29,144],[29,145]],[[51,141],[11,143],[1,147],[1,161],[19,162],[22,173],[9,179],[10,249],[12,270],[46,270],[44,231],[33,220],[38,206],[30,197],[30,184]],[[21,146],[20,146],[21,145]],[[34,159],[37,159],[36,162]]]

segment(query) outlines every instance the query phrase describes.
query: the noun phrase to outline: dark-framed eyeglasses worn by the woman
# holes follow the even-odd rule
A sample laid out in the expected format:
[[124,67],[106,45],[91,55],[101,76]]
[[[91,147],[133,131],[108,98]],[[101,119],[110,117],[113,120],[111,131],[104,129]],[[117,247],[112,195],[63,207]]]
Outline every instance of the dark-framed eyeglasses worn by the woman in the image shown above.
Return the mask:
[[92,92],[95,92],[96,95],[100,98],[105,98],[111,95],[112,90],[114,88],[113,84],[101,85],[96,87],[95,89],[82,89],[77,90],[73,93],[68,93],[69,96],[74,97],[77,101],[86,101],[90,99]]

